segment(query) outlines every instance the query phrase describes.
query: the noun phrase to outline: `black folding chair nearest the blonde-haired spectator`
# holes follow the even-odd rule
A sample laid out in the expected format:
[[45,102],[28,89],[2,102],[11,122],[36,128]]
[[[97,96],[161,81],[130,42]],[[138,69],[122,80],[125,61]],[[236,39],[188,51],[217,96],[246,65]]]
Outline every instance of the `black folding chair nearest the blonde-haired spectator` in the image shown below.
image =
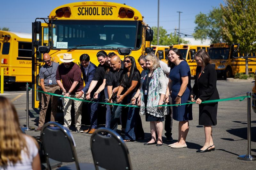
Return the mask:
[[[55,127],[49,127],[54,125]],[[41,140],[44,146],[47,167],[51,169],[49,158],[61,162],[75,162],[68,166],[58,168],[63,169],[95,169],[93,164],[78,163],[75,142],[69,130],[59,123],[47,122],[41,130]]]

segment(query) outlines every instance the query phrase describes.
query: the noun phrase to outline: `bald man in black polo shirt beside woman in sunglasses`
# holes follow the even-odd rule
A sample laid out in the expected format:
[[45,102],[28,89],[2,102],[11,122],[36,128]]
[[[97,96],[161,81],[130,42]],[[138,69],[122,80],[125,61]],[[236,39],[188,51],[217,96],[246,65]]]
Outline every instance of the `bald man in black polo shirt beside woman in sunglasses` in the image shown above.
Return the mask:
[[[107,76],[108,96],[111,96],[112,93],[115,94],[118,91],[119,83],[124,70],[124,62],[121,61],[119,56],[114,55],[110,60],[110,65],[112,67],[112,70],[108,72]],[[116,95],[114,95],[112,101],[116,101]],[[110,129],[116,130],[118,120],[122,112],[122,107],[113,106],[112,108],[113,109],[111,114]]]

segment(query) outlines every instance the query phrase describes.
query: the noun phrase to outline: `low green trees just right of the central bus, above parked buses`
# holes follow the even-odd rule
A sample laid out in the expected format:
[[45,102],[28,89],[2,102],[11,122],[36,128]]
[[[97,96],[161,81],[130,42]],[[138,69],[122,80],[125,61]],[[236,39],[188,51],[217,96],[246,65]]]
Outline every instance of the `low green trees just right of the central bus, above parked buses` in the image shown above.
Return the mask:
[[[153,41],[151,44],[157,45],[157,27],[152,26],[151,28],[154,31]],[[189,43],[189,41],[185,41],[184,39],[180,38],[180,43]],[[167,34],[167,31],[160,26],[159,27],[159,45],[174,45],[178,44],[178,35],[176,32]]]

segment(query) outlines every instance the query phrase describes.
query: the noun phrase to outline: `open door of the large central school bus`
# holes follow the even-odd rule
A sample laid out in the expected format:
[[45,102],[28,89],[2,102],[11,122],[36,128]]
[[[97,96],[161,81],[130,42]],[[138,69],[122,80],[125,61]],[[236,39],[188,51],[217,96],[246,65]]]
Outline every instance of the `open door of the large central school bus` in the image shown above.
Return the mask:
[[38,51],[38,46],[48,45],[49,27],[41,23],[40,32],[34,31],[35,23],[32,23],[32,108],[38,108],[41,102],[41,93],[35,90],[42,90],[40,87],[39,70],[44,65],[43,54]]

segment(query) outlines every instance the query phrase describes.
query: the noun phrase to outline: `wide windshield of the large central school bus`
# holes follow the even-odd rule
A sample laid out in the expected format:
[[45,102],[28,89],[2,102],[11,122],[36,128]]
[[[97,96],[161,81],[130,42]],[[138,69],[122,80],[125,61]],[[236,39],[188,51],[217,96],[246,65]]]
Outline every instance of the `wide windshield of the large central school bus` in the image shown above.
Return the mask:
[[109,49],[141,46],[142,24],[138,21],[55,20],[52,22],[53,49]]

